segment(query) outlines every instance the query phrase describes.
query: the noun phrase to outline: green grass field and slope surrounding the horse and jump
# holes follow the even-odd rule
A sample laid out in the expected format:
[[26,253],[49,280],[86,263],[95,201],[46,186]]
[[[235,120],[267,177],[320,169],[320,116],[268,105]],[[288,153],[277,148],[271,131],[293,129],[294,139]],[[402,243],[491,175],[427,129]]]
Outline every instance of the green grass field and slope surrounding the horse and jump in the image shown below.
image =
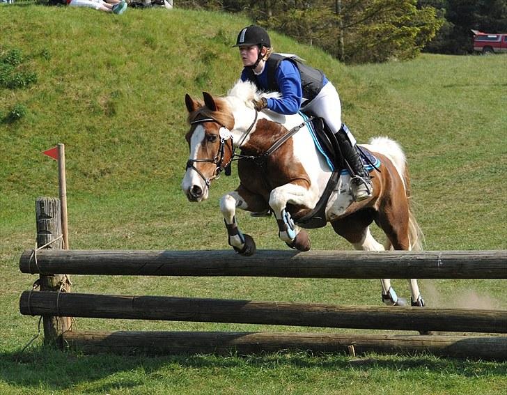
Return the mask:
[[[64,143],[74,249],[226,249],[221,194],[190,204],[180,191],[185,93],[223,95],[240,73],[231,49],[249,21],[219,13],[0,6],[1,394],[499,394],[507,364],[431,356],[279,353],[240,357],[85,356],[42,348],[38,318],[20,316],[35,277],[17,261],[35,244],[34,201],[56,196]],[[505,249],[507,56],[423,55],[345,66],[273,34],[338,86],[359,141],[389,135],[405,148],[426,249]],[[240,213],[258,248],[281,249],[270,219]],[[330,228],[314,249],[350,249]],[[73,290],[380,305],[379,281],[74,276]],[[407,296],[405,281],[393,281]],[[423,280],[432,307],[507,308],[505,281]],[[78,329],[273,330],[262,325],[77,320]],[[312,331],[309,328],[276,330]],[[324,330],[322,331],[331,331]],[[346,331],[340,331],[346,332]]]

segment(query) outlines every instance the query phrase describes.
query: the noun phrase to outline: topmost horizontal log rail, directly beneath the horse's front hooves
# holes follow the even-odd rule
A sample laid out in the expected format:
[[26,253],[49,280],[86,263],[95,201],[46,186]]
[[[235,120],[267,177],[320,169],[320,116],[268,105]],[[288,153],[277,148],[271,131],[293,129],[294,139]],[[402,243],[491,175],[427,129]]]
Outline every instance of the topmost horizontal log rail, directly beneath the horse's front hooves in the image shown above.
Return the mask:
[[24,251],[20,270],[40,274],[255,276],[331,279],[507,279],[507,250]]

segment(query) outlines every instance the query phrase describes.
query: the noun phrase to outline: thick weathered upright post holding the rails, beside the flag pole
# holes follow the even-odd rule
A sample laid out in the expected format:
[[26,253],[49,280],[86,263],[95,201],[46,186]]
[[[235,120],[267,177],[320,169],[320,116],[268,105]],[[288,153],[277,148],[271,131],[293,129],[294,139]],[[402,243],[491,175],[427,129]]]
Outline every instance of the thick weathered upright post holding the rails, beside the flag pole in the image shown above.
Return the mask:
[[[37,248],[63,249],[60,199],[37,198],[36,221]],[[40,291],[69,292],[70,280],[65,274],[41,274]],[[70,330],[70,317],[43,316],[42,321],[45,344],[60,343],[63,332]]]

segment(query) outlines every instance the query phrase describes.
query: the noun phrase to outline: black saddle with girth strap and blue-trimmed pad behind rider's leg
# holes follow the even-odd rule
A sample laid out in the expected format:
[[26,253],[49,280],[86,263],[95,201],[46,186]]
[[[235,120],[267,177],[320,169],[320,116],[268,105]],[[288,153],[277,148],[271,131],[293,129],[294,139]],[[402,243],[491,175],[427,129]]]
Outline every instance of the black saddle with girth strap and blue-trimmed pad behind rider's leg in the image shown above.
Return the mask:
[[[338,141],[336,141],[334,133],[329,130],[329,127],[327,127],[324,119],[313,118],[309,120],[309,123],[311,124],[311,127],[308,129],[312,134],[315,146],[318,148],[320,153],[324,155],[326,162],[333,170],[333,173],[331,174],[331,177],[329,178],[319,201],[315,205],[315,208],[313,208],[313,210],[311,210],[303,217],[294,219],[294,222],[303,228],[315,229],[322,228],[326,225],[327,221],[325,210],[327,201],[329,201],[329,197],[336,188],[340,176],[342,174],[348,173],[348,170],[345,168],[340,146],[338,146]],[[363,165],[368,171],[373,171],[373,169],[378,170],[378,166],[380,166],[380,160],[378,160],[377,157],[375,157],[372,153],[370,153],[369,150],[364,147],[356,146],[356,149],[359,152],[359,157],[361,157]]]

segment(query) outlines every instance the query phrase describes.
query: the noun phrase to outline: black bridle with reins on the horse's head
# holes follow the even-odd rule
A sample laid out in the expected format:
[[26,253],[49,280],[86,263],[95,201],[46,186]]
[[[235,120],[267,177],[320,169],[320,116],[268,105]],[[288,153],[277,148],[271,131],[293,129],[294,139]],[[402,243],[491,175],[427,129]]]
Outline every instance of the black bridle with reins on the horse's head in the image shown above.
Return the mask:
[[[223,134],[221,134],[219,132],[220,145],[219,145],[218,150],[217,150],[217,155],[214,155],[213,159],[189,159],[189,160],[187,160],[187,167],[186,167],[186,169],[187,170],[188,169],[193,169],[194,171],[196,171],[196,173],[198,173],[198,175],[201,176],[201,178],[204,180],[204,183],[206,184],[207,187],[210,186],[212,180],[220,178],[220,173],[224,169],[226,170],[226,175],[228,175],[228,169],[230,171],[229,165],[235,159],[235,157],[237,157],[237,155],[235,153],[236,149],[237,149],[237,147],[239,147],[239,146],[241,146],[243,144],[244,139],[246,139],[247,136],[250,134],[251,130],[253,129],[253,125],[255,125],[256,122],[257,122],[257,115],[258,115],[258,113],[256,111],[256,116],[255,116],[255,118],[253,118],[253,122],[248,127],[247,131],[244,132],[244,134],[243,134],[243,136],[241,138],[240,144],[238,144],[236,147],[233,144],[233,138],[232,138],[231,132],[227,129],[227,127],[225,127],[224,125],[222,125],[216,119],[214,119],[214,118],[203,118],[203,119],[197,119],[196,121],[190,122],[190,125],[196,125],[196,124],[205,123],[205,122],[218,123],[218,125],[220,126],[220,130],[222,128],[224,128],[226,130],[226,132],[228,132],[228,135],[223,135]],[[225,154],[226,141],[228,141],[229,139],[231,140],[231,159],[226,164],[224,164],[224,154]],[[208,163],[214,164],[216,166],[216,169],[215,169],[215,171],[213,173],[213,176],[211,176],[210,178],[206,178],[204,176],[204,174],[199,169],[197,169],[196,166],[194,166],[194,163],[196,163],[196,162],[208,162]]]

